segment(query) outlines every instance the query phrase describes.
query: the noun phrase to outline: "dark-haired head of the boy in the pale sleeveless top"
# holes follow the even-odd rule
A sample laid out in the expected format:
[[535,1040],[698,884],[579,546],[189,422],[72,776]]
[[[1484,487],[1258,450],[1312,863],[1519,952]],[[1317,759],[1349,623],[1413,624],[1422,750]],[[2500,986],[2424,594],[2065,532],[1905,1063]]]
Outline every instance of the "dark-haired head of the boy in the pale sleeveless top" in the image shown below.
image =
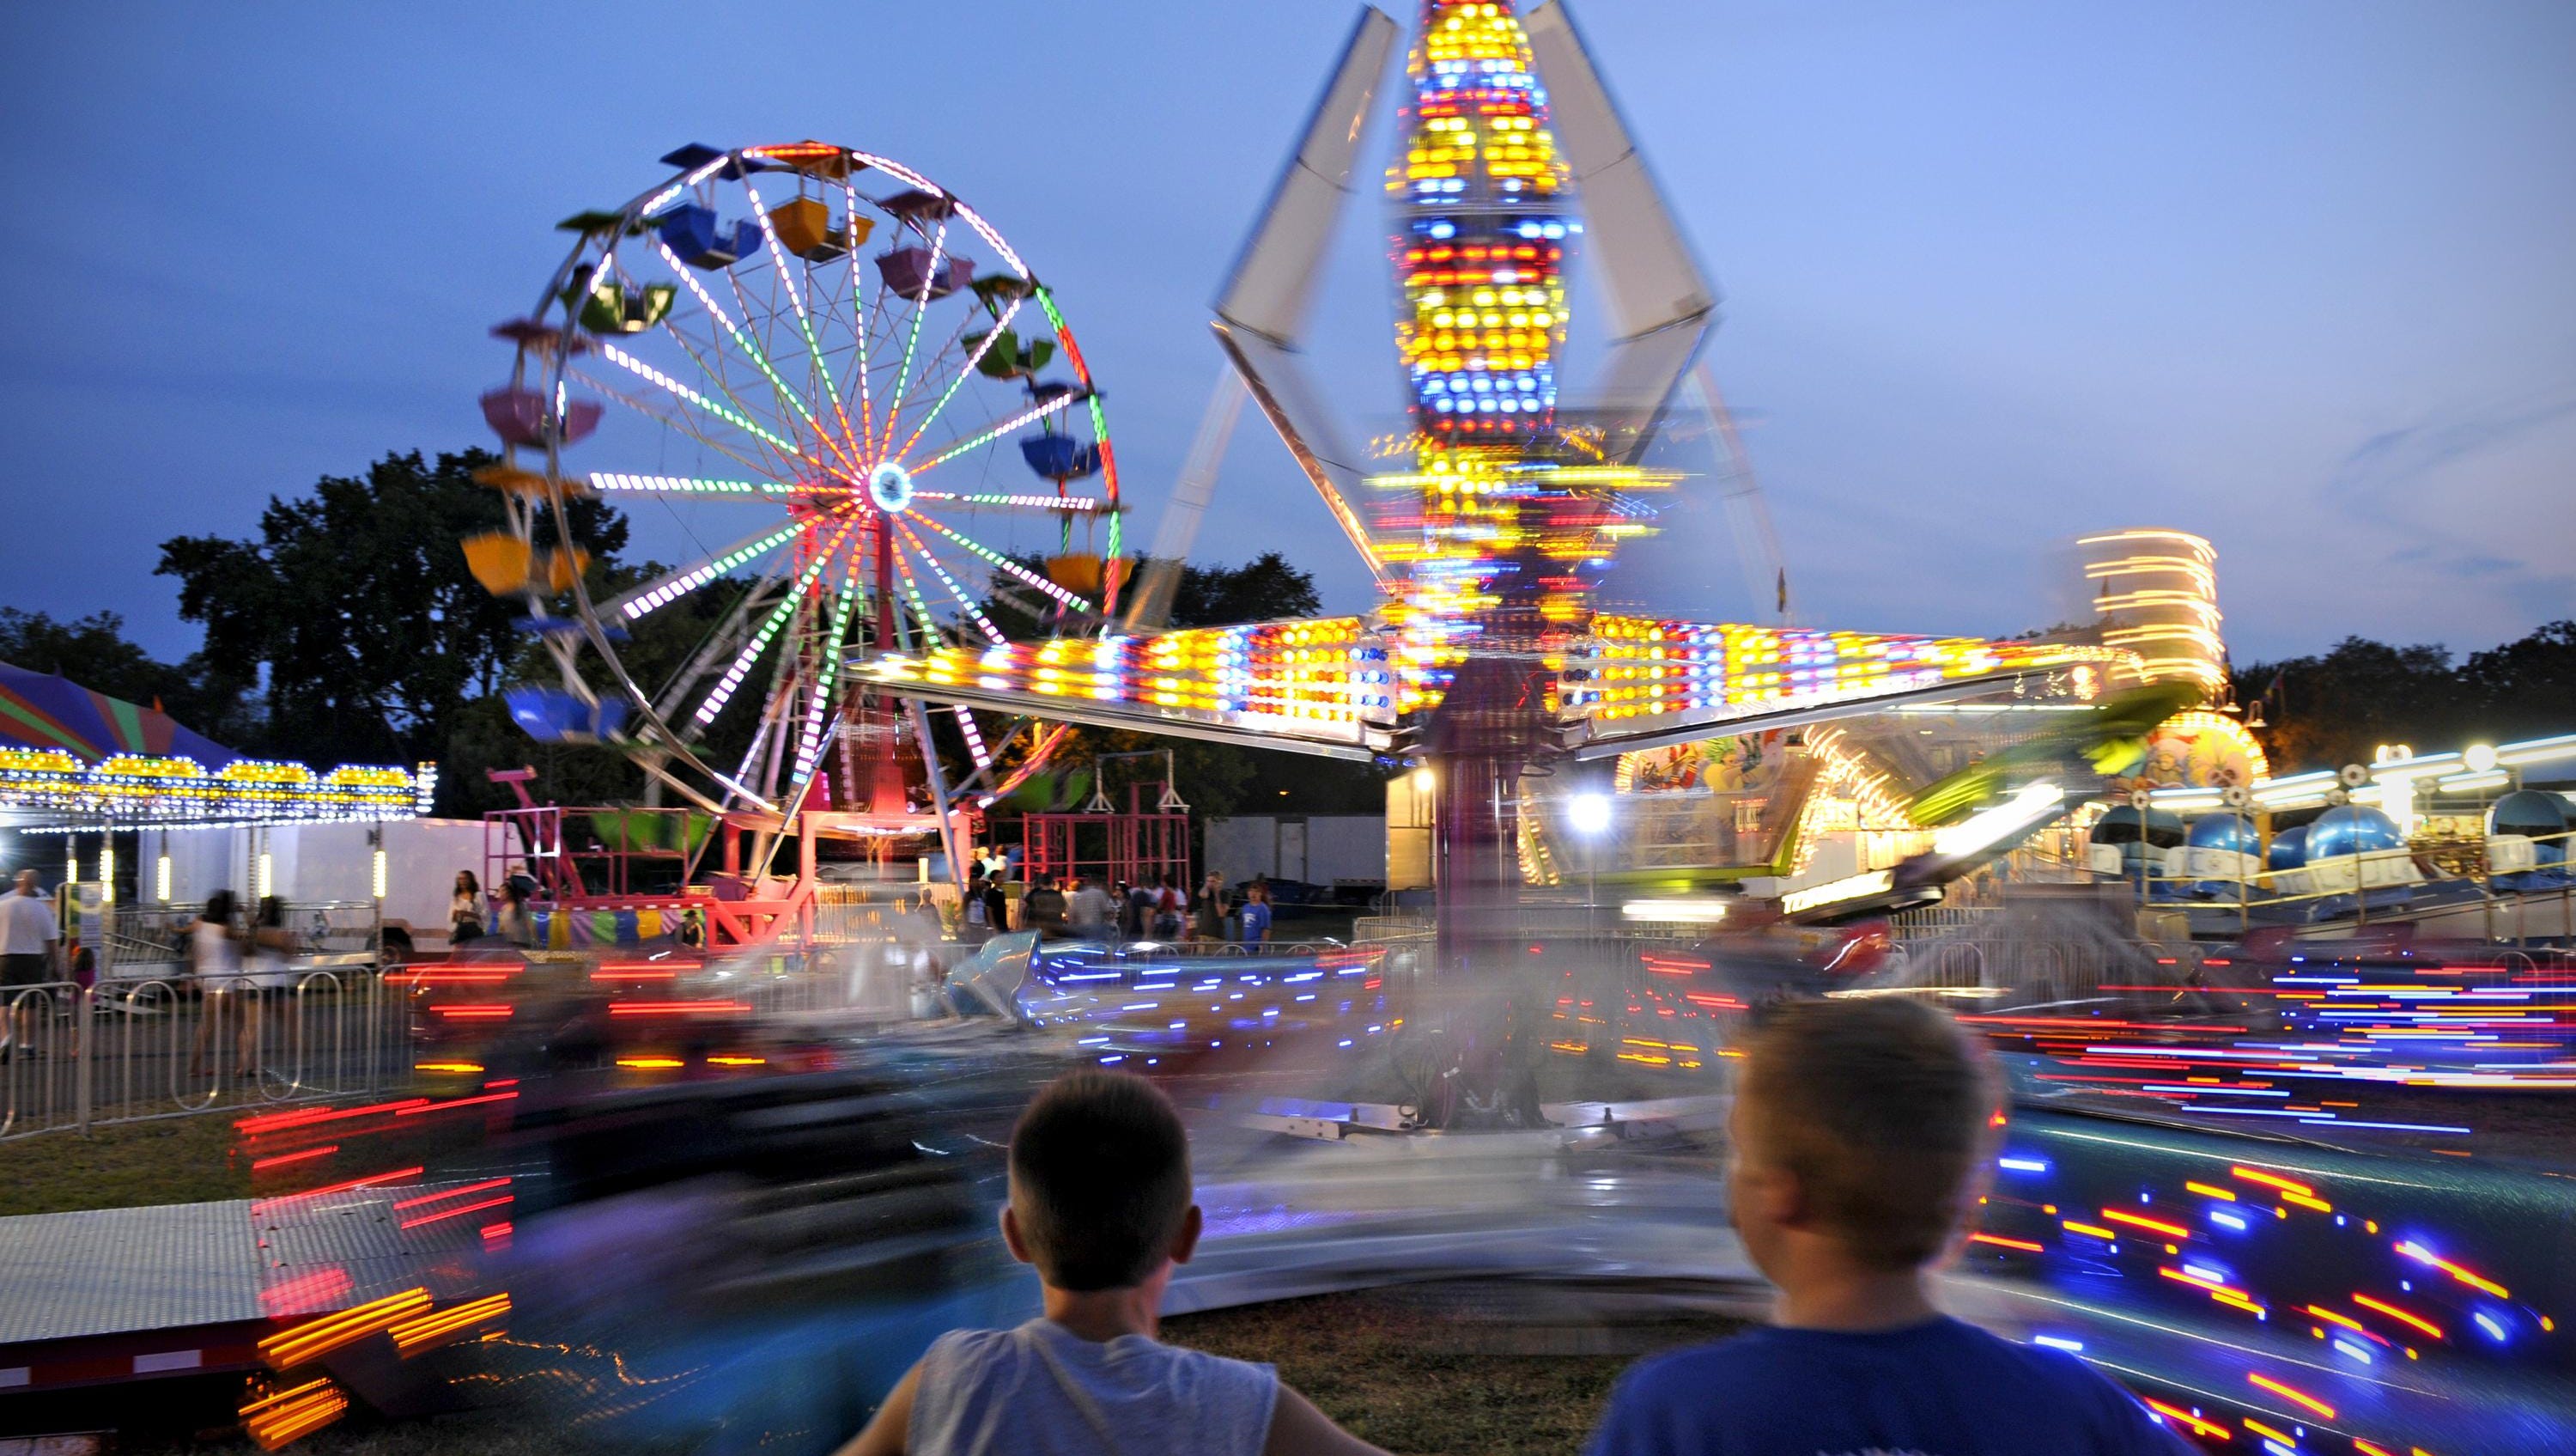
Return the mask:
[[1046,1283],[1144,1283],[1190,1211],[1190,1139],[1144,1077],[1056,1077],[1010,1129],[1010,1206]]

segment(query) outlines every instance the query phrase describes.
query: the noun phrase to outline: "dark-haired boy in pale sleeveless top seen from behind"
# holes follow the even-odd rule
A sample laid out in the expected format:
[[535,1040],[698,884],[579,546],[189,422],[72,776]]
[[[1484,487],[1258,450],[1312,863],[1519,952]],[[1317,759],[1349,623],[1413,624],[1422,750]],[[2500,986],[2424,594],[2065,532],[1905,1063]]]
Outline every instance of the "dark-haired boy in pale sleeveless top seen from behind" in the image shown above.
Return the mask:
[[840,1456],[1383,1456],[1270,1366],[1154,1340],[1198,1229],[1172,1103],[1123,1072],[1059,1077],[1010,1134],[1002,1209],[1046,1314],[933,1340]]

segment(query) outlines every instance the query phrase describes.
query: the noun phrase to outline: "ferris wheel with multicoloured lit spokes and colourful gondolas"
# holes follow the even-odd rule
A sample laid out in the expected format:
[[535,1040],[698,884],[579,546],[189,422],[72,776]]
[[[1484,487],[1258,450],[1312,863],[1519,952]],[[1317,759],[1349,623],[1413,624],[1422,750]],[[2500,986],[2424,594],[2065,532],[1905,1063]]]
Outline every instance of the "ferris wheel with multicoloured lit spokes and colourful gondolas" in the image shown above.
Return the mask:
[[[515,345],[482,397],[507,528],[466,559],[526,598],[562,678],[513,716],[613,742],[711,812],[945,825],[1064,729],[878,698],[850,662],[1105,629],[1100,389],[1028,263],[912,168],[824,142],[662,162],[626,206],[567,219],[580,242],[538,307],[492,330]],[[582,497],[677,523],[696,559],[592,593]]]

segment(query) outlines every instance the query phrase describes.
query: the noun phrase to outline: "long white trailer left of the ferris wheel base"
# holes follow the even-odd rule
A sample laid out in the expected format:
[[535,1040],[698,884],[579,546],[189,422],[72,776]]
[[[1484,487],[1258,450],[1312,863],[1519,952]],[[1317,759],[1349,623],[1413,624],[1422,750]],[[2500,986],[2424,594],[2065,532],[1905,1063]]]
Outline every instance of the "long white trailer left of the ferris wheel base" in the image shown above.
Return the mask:
[[216,889],[245,902],[260,894],[289,905],[376,899],[384,928],[402,930],[420,951],[448,943],[456,871],[484,874],[482,819],[173,827],[139,838],[139,907],[193,910]]

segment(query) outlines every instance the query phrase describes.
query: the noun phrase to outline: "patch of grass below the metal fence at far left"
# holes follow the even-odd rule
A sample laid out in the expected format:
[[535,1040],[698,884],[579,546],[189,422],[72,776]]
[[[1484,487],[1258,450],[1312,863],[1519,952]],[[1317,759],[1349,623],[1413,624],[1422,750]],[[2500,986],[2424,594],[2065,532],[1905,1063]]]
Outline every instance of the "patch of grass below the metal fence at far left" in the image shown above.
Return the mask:
[[232,1118],[160,1118],[0,1142],[0,1216],[250,1198]]

